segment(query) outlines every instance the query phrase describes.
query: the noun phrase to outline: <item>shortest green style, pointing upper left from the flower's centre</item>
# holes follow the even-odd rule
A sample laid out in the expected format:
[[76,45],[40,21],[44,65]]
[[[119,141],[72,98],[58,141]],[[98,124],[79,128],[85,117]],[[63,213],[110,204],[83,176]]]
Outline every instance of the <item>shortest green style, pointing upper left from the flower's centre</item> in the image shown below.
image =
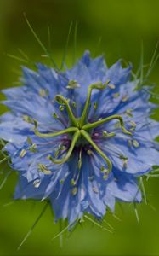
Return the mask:
[[71,111],[71,108],[70,108],[70,105],[68,103],[68,100],[66,100],[65,97],[63,97],[61,95],[56,95],[55,96],[55,100],[57,102],[59,102],[60,104],[62,103],[62,104],[65,105],[66,111],[67,111],[67,113],[69,115],[69,119],[71,120],[72,125],[77,126],[77,119],[75,118],[74,114]]

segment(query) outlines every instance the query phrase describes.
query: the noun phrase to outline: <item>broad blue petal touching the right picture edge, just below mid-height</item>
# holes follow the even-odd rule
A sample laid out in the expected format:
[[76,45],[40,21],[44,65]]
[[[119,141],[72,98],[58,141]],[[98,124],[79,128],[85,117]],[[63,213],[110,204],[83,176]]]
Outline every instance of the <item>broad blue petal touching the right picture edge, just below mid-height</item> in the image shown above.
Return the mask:
[[[101,147],[117,169],[134,175],[143,175],[150,172],[152,166],[159,165],[159,152],[152,143],[149,144],[149,147],[142,141],[138,140],[138,143],[138,148],[129,147],[128,138],[124,140],[117,134],[116,137],[111,138],[110,143],[101,144]],[[121,155],[128,158],[126,167],[123,165]]]

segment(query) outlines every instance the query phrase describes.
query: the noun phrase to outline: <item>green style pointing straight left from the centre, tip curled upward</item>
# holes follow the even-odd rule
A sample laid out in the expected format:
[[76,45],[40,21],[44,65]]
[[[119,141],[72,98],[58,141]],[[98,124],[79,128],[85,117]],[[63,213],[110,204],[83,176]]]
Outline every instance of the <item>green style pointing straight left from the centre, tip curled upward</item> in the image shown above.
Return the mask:
[[70,127],[65,130],[57,131],[54,133],[42,133],[37,130],[37,121],[35,121],[35,120],[34,120],[34,125],[35,125],[34,132],[35,132],[35,135],[37,135],[38,137],[56,137],[56,136],[60,136],[64,133],[74,132],[74,131],[78,130],[76,127]]

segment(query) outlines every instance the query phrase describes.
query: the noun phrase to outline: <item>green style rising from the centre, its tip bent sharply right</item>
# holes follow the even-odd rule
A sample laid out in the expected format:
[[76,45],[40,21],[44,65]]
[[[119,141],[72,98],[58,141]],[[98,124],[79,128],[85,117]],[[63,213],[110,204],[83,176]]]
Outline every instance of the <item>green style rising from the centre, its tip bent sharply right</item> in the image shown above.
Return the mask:
[[85,103],[85,106],[84,106],[84,109],[83,109],[83,112],[82,112],[82,116],[81,116],[81,119],[80,119],[80,126],[81,127],[82,127],[82,125],[84,124],[84,122],[86,120],[92,90],[93,89],[104,90],[109,82],[110,81],[106,81],[105,84],[100,84],[99,83],[99,84],[91,84],[91,85],[88,86],[88,97],[87,97],[87,100],[86,100],[86,103]]

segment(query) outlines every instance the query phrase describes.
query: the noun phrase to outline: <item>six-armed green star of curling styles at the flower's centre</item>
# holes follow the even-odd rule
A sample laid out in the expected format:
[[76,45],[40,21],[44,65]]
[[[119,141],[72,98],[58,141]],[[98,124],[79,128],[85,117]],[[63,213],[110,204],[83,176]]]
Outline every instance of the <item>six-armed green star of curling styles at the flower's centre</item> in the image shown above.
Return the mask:
[[[51,155],[48,155],[48,159],[51,160],[54,164],[63,164],[65,163],[67,160],[70,159],[71,154],[73,152],[73,149],[75,148],[75,146],[79,143],[79,140],[84,138],[84,140],[87,141],[87,143],[89,143],[96,151],[97,153],[102,156],[102,158],[105,160],[105,163],[108,167],[108,172],[111,172],[111,160],[109,160],[109,158],[106,156],[106,154],[99,148],[99,146],[94,143],[94,140],[92,139],[92,137],[90,136],[90,131],[92,131],[92,129],[94,129],[95,127],[105,124],[108,121],[111,121],[113,119],[118,119],[122,128],[122,131],[128,135],[132,135],[132,133],[130,131],[128,131],[125,127],[124,127],[124,122],[122,119],[122,116],[114,114],[111,115],[105,119],[99,119],[98,121],[94,122],[94,123],[88,123],[88,108],[90,105],[90,99],[91,99],[91,94],[92,94],[92,90],[96,89],[96,90],[104,90],[107,86],[107,84],[109,84],[109,81],[107,81],[105,84],[102,83],[97,83],[97,84],[91,84],[88,86],[88,96],[87,96],[87,100],[84,106],[84,109],[82,111],[82,116],[77,119],[74,114],[71,111],[71,107],[69,105],[69,101],[67,99],[65,99],[64,96],[61,95],[57,95],[55,96],[55,100],[60,103],[60,106],[62,106],[63,108],[65,107],[69,119],[70,119],[70,123],[71,123],[71,127],[66,128],[65,130],[62,131],[58,131],[58,132],[54,132],[54,133],[41,133],[38,131],[37,127],[37,121],[34,120],[34,132],[38,137],[56,137],[56,136],[60,136],[62,134],[65,133],[71,133],[72,134],[72,140],[71,140],[71,145],[70,148],[68,149],[67,153],[65,154],[65,157],[62,159],[55,159],[53,158]],[[114,135],[114,134],[113,134]],[[104,136],[105,137],[111,137],[113,136],[112,133],[107,133],[106,131],[104,131]]]

